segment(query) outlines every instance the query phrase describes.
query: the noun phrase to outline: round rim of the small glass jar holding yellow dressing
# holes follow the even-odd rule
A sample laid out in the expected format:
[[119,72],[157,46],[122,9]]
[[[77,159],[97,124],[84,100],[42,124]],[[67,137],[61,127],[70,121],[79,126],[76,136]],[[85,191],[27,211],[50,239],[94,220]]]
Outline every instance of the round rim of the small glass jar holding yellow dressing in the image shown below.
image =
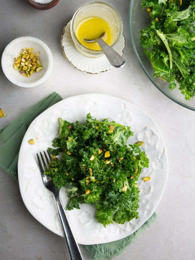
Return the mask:
[[74,41],[74,39],[75,39],[75,40],[76,40],[76,43],[77,43],[81,48],[83,48],[83,50],[86,51],[86,53],[91,54],[91,55],[101,55],[101,54],[104,54],[104,52],[102,52],[102,50],[97,50],[97,51],[96,51],[96,50],[91,50],[91,49],[85,47],[84,45],[82,45],[82,44],[80,43],[80,41],[77,39],[76,34],[75,34],[75,31],[73,30],[73,22],[74,22],[75,16],[77,15],[78,12],[80,12],[81,9],[83,9],[83,7],[86,7],[87,5],[91,5],[91,4],[97,4],[97,3],[98,3],[98,4],[106,5],[106,6],[108,6],[109,8],[111,8],[111,9],[116,13],[116,15],[117,15],[118,18],[119,18],[121,30],[120,30],[120,33],[119,33],[119,35],[118,35],[118,38],[117,38],[116,41],[111,45],[112,48],[115,47],[115,46],[117,45],[117,43],[119,42],[119,39],[121,38],[121,36],[122,36],[122,31],[123,31],[123,24],[122,24],[121,16],[119,15],[119,12],[118,12],[114,7],[112,7],[111,5],[108,5],[107,3],[104,3],[104,2],[94,1],[94,2],[90,2],[90,3],[87,3],[87,4],[83,5],[83,6],[81,6],[81,7],[75,12],[75,14],[73,15],[73,18],[72,18],[72,20],[71,20],[71,25],[70,25],[70,32],[71,32],[71,36],[72,36],[72,38],[73,38],[73,41]]

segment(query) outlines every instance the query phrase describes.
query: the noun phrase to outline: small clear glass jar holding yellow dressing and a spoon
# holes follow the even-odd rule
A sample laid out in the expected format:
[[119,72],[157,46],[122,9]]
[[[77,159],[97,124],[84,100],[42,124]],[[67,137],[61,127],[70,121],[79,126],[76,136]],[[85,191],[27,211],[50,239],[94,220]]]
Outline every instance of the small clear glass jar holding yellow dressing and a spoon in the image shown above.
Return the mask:
[[[115,47],[122,36],[122,20],[119,13],[110,5],[103,2],[90,2],[80,7],[73,16],[70,32],[76,49],[83,55],[96,58],[104,55],[102,50],[91,50],[80,43],[76,36],[77,25],[85,18],[98,16],[109,24],[112,31],[111,47]],[[94,28],[95,30],[95,28]]]

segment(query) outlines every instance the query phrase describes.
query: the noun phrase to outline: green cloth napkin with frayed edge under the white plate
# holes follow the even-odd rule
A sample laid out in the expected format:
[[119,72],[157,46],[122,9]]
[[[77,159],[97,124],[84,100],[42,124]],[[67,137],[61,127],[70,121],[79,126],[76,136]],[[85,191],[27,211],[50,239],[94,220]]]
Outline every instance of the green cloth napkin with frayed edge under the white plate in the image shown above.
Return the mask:
[[[23,113],[15,119],[8,126],[0,130],[0,139],[3,145],[0,146],[0,167],[6,172],[10,173],[16,179],[18,178],[17,164],[20,145],[22,143],[24,134],[26,133],[30,123],[45,109],[62,100],[62,97],[53,93],[49,97],[44,98],[38,102],[34,107]],[[90,256],[94,259],[112,258],[120,255],[124,248],[133,243],[142,230],[150,225],[156,218],[154,213],[150,219],[147,220],[136,232],[129,237],[123,238],[110,243],[97,245],[84,245],[87,248]]]

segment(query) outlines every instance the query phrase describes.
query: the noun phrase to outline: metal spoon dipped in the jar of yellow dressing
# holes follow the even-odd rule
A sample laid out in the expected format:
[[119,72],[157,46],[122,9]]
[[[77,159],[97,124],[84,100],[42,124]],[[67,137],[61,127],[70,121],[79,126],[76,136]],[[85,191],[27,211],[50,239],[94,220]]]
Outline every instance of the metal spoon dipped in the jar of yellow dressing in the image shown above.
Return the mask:
[[97,39],[89,40],[89,39],[83,39],[83,41],[86,42],[98,42],[100,45],[102,51],[108,58],[109,62],[112,66],[115,66],[117,68],[122,67],[125,64],[125,60],[112,48],[110,47],[102,38],[104,37],[105,32],[103,32],[100,37]]

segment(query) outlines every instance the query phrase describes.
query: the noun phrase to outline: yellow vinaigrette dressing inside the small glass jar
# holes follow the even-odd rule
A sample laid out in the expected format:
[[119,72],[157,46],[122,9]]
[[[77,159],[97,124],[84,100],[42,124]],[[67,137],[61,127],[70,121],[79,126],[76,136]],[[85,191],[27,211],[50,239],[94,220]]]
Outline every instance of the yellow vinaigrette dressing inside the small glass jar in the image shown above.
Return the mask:
[[76,27],[76,36],[80,43],[91,50],[101,50],[97,42],[86,42],[83,39],[93,40],[100,37],[105,32],[102,38],[108,45],[112,43],[112,31],[109,24],[103,18],[91,16],[82,20]]

